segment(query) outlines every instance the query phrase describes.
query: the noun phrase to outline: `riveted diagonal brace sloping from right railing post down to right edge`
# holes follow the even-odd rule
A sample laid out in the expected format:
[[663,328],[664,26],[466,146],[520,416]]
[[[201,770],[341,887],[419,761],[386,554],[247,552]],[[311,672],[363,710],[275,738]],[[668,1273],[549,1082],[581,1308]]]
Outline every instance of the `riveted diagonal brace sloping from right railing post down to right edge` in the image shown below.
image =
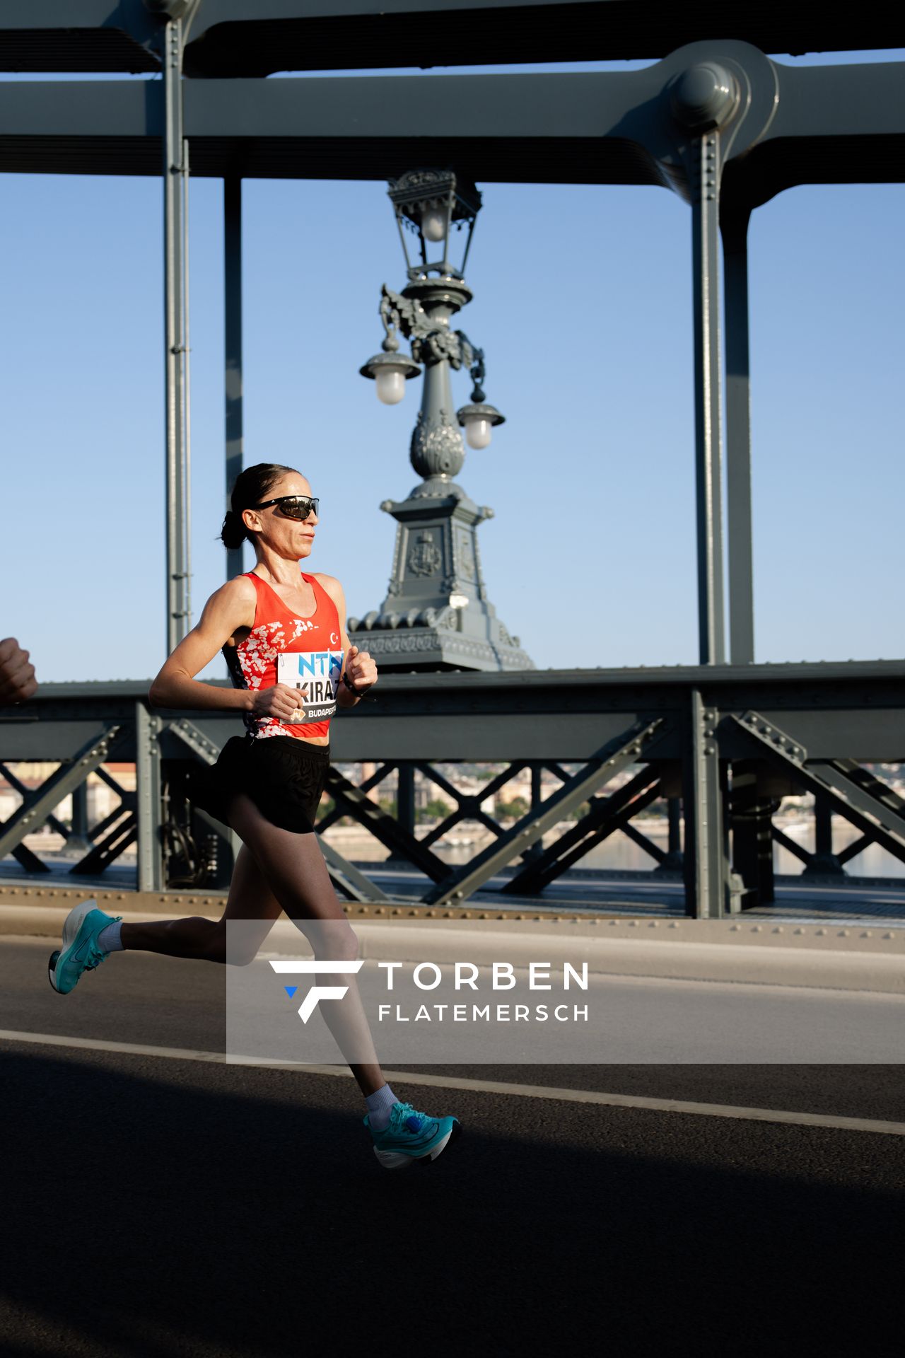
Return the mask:
[[761,756],[791,771],[807,792],[822,793],[837,815],[905,862],[905,800],[891,788],[853,759],[809,759],[801,741],[758,712],[745,712],[733,720]]

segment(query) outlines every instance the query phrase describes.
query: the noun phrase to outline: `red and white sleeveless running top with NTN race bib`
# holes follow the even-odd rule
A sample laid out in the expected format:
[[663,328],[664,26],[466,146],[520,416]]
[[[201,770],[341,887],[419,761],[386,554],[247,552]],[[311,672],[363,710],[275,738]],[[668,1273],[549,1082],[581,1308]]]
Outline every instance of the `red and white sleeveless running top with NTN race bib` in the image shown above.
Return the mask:
[[342,675],[342,633],[336,604],[313,576],[301,574],[315,592],[315,611],[297,618],[288,604],[254,570],[258,603],[251,631],[237,646],[224,646],[229,678],[236,689],[273,689],[277,683],[297,689],[304,698],[301,721],[278,721],[244,713],[252,736],[326,736],[336,712]]

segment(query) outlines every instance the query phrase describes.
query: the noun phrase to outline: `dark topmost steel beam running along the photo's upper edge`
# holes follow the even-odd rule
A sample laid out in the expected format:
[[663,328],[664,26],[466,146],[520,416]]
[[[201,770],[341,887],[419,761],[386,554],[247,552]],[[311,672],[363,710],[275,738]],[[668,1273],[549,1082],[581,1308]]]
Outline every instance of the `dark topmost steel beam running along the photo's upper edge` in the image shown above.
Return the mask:
[[[202,0],[189,73],[430,67],[478,61],[659,57],[692,38],[734,37],[764,52],[904,45],[894,7],[864,15],[761,4],[726,10],[636,0]],[[153,39],[179,0],[31,0],[0,14],[0,69],[156,71]]]

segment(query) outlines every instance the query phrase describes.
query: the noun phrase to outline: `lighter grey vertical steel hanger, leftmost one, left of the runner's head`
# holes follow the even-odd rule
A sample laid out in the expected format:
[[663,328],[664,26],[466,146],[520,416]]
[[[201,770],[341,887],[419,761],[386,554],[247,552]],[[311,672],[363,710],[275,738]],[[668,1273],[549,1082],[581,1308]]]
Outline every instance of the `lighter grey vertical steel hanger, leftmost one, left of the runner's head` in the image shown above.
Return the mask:
[[182,23],[163,30],[164,382],[167,459],[167,655],[191,626],[189,606],[189,439],[186,308],[186,143],[182,118]]

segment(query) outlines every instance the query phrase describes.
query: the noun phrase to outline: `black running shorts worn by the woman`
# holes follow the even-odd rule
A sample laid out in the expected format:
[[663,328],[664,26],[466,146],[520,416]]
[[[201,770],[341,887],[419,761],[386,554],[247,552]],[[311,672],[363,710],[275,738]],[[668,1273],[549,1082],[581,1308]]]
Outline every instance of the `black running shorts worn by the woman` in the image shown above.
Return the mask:
[[244,792],[281,830],[309,835],[327,782],[330,747],[293,736],[233,736],[208,769],[189,779],[194,805],[229,824],[229,801]]

